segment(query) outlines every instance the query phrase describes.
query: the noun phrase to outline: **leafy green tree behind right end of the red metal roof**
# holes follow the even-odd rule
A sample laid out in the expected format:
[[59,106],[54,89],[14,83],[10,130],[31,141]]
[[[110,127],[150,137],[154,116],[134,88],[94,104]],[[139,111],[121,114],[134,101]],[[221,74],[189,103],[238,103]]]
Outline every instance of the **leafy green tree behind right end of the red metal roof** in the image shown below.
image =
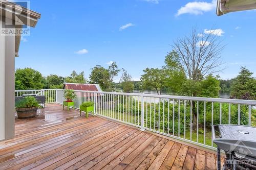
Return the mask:
[[103,91],[110,90],[111,75],[108,69],[96,65],[91,69],[90,83],[99,84]]

